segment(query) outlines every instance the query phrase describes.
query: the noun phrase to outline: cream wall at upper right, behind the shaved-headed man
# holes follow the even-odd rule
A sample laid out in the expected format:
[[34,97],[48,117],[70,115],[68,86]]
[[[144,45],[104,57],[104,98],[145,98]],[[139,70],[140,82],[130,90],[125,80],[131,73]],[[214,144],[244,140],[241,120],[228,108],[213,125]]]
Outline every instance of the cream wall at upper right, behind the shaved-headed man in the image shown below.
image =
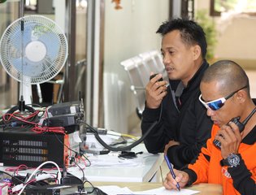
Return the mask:
[[[195,8],[210,12],[210,0],[196,0]],[[223,15],[214,20],[218,31],[215,58],[237,59],[241,66],[256,68],[256,16]]]

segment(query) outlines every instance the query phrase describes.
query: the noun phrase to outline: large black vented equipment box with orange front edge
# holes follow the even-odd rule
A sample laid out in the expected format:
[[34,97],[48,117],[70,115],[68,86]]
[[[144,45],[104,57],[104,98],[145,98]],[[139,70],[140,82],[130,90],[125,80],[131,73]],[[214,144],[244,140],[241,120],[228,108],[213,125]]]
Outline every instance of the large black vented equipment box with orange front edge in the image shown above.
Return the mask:
[[43,162],[53,161],[59,167],[69,165],[69,157],[79,154],[80,151],[79,143],[76,142],[78,133],[39,134],[24,128],[6,131],[0,128],[0,164],[38,167]]

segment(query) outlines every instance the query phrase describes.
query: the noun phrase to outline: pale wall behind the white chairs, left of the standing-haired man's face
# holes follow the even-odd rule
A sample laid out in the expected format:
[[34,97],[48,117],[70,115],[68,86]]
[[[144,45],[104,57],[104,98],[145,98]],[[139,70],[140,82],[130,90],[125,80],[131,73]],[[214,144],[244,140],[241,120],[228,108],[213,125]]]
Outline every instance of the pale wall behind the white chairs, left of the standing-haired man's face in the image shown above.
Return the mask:
[[[104,97],[108,100],[104,102],[105,124],[106,128],[127,132],[139,120],[128,75],[120,62],[147,50],[159,50],[161,37],[155,32],[168,19],[169,0],[120,2],[121,10],[115,10],[111,0],[105,2],[104,89],[105,96],[108,95]],[[107,84],[106,80],[111,82]]]

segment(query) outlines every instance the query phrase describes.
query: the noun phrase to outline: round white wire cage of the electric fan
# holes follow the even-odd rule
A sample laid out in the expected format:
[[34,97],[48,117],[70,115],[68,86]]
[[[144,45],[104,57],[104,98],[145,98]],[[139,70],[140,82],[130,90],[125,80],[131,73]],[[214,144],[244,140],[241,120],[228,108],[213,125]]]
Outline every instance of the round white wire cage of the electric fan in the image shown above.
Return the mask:
[[2,66],[12,78],[28,84],[54,78],[67,60],[67,50],[67,37],[61,28],[42,15],[15,20],[0,40]]

